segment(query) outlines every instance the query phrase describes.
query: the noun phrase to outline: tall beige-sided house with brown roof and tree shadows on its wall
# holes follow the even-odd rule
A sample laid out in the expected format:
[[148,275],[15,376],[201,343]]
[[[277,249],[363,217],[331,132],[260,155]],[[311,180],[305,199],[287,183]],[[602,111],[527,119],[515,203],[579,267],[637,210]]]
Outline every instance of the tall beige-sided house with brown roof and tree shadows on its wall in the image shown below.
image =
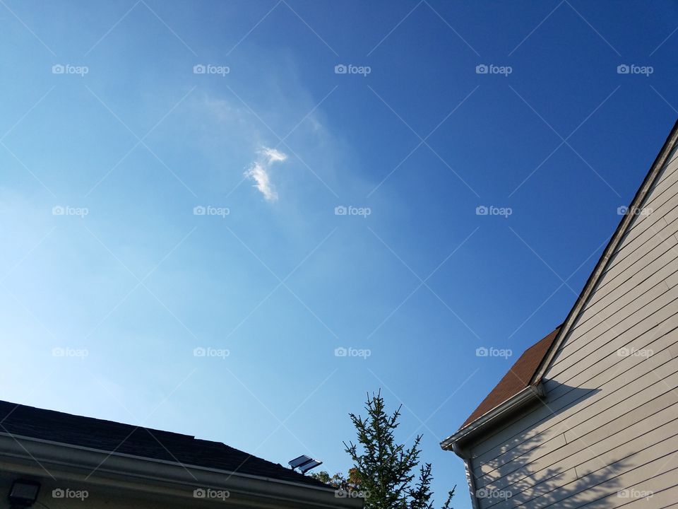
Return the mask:
[[678,123],[565,321],[441,443],[474,508],[678,507]]

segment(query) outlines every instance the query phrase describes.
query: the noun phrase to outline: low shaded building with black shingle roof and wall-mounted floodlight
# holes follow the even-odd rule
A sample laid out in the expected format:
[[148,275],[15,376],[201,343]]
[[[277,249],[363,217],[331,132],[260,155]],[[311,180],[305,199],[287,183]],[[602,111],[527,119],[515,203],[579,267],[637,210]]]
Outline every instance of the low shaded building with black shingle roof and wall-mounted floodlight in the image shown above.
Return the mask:
[[362,508],[340,495],[219,442],[0,402],[1,507]]

